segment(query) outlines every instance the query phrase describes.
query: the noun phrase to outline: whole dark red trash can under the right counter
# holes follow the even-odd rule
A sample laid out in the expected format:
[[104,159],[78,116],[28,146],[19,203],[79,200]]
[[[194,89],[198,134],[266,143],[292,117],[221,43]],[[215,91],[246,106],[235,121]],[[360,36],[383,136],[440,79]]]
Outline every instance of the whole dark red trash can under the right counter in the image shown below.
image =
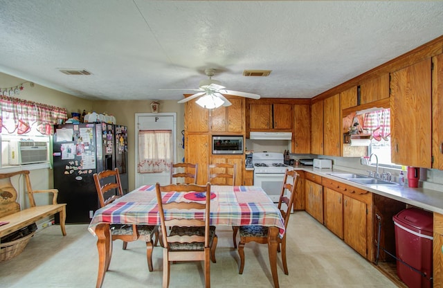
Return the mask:
[[397,275],[409,288],[433,287],[432,213],[408,208],[401,210],[392,219],[395,224],[395,252],[399,259]]

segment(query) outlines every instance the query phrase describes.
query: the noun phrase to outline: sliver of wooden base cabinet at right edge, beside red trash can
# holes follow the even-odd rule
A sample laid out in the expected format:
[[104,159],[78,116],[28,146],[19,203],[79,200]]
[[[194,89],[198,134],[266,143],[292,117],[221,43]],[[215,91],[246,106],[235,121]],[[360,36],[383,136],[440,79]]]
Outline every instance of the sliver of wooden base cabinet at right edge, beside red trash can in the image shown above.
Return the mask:
[[434,213],[433,237],[433,284],[443,288],[443,215],[439,213]]

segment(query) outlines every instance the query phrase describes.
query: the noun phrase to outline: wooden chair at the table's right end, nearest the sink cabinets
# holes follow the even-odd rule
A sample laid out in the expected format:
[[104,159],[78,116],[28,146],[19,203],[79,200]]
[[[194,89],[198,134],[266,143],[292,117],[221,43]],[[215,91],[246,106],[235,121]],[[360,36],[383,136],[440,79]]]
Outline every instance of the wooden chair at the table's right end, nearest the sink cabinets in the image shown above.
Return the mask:
[[[287,179],[288,177],[292,177],[293,182],[288,183]],[[300,183],[300,176],[298,173],[293,171],[286,171],[284,174],[284,180],[282,184],[282,192],[280,193],[280,199],[278,201],[278,209],[280,209],[280,212],[282,213],[282,217],[284,219],[284,228],[287,229],[288,222],[289,222],[289,216],[291,215],[291,207],[293,206],[293,199],[296,195],[297,187]],[[288,198],[287,194],[285,192],[291,192],[290,197]],[[285,204],[286,207],[284,209],[282,208],[282,204]],[[268,227],[266,226],[259,226],[259,225],[251,225],[251,226],[239,226],[235,227],[238,228],[239,234],[240,234],[240,241],[238,244],[238,253],[240,256],[240,267],[239,267],[239,274],[243,273],[244,268],[244,244],[248,242],[257,242],[260,244],[269,244],[268,243]],[[287,232],[287,230],[286,230]],[[234,232],[236,233],[236,231]],[[283,262],[283,269],[284,273],[288,275],[288,267],[287,267],[287,261],[286,261],[286,235],[287,233],[284,233],[283,237],[280,240],[281,244],[281,253],[282,253],[282,262]],[[234,241],[235,241],[235,235],[234,235]],[[279,245],[279,251],[280,251],[280,245]],[[274,279],[275,282],[275,279]]]

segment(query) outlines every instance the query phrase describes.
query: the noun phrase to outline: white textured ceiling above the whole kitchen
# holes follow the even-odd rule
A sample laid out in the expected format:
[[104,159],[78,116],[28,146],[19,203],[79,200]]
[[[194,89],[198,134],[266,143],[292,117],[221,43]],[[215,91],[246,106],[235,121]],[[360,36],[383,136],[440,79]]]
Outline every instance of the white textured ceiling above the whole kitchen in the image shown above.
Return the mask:
[[109,100],[179,100],[192,91],[159,89],[197,89],[206,68],[230,90],[312,98],[443,31],[443,1],[0,0],[0,15],[1,72]]

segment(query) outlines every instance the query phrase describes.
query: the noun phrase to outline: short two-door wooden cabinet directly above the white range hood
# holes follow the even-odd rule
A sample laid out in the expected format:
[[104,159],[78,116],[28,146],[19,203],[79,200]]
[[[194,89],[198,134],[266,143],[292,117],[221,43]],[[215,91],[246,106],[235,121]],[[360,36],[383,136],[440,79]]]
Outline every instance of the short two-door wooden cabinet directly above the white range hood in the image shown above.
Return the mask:
[[292,104],[251,103],[249,107],[249,131],[278,129],[291,131],[293,122]]

